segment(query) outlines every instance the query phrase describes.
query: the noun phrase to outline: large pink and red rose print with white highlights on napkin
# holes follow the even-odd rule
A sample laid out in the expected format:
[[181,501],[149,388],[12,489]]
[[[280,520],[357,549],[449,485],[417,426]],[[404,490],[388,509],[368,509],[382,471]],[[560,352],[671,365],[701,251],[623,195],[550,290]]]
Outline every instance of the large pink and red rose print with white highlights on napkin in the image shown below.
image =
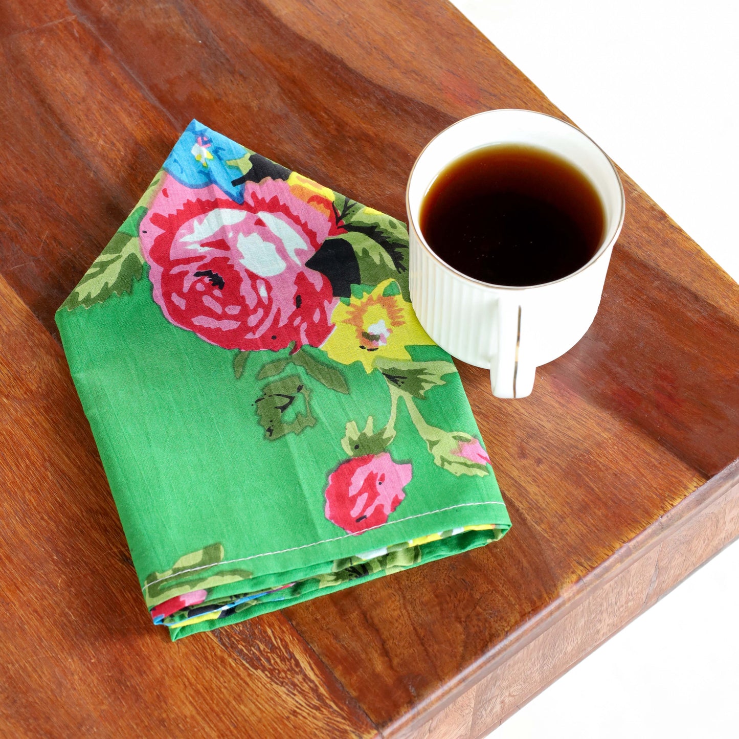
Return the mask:
[[335,232],[327,211],[283,180],[246,183],[239,205],[217,185],[193,190],[169,175],[139,229],[168,321],[244,351],[326,341],[338,299],[305,262]]

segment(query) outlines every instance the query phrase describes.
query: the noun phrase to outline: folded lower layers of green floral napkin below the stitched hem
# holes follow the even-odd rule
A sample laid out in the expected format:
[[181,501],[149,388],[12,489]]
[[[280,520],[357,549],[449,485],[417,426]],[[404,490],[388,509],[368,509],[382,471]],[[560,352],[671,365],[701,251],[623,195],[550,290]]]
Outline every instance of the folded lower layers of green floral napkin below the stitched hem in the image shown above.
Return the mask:
[[[160,621],[155,619],[155,623],[168,626],[171,640],[176,641],[178,638],[200,631],[235,624],[262,613],[270,613],[270,611],[296,605],[336,590],[408,570],[452,554],[479,548],[503,537],[508,528],[497,525],[464,527],[423,537],[426,541],[421,543],[403,542],[400,545],[392,545],[387,548],[386,554],[373,559],[352,557],[347,560],[327,562],[325,565],[327,571],[320,575],[302,579],[299,582],[287,582],[279,588],[258,593],[256,596],[245,593],[236,597],[230,606],[214,602],[211,598],[204,599],[199,607],[188,610],[185,619],[172,624],[167,624],[166,619]],[[333,568],[338,569],[333,570]],[[191,592],[197,593],[198,591]],[[202,593],[199,594],[202,595]],[[190,616],[190,613],[195,615]]]

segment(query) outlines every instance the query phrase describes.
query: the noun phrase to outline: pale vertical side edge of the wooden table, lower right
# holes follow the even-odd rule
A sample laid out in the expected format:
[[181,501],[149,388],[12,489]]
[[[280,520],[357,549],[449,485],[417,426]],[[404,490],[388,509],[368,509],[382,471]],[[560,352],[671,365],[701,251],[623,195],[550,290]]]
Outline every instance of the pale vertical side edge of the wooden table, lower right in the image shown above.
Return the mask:
[[[505,718],[668,593],[695,568],[739,537],[739,486],[702,488],[700,500],[672,509],[670,526],[653,525],[638,551],[602,565],[592,586],[486,678],[417,729],[398,739],[483,739]],[[686,505],[687,504],[687,505]]]

